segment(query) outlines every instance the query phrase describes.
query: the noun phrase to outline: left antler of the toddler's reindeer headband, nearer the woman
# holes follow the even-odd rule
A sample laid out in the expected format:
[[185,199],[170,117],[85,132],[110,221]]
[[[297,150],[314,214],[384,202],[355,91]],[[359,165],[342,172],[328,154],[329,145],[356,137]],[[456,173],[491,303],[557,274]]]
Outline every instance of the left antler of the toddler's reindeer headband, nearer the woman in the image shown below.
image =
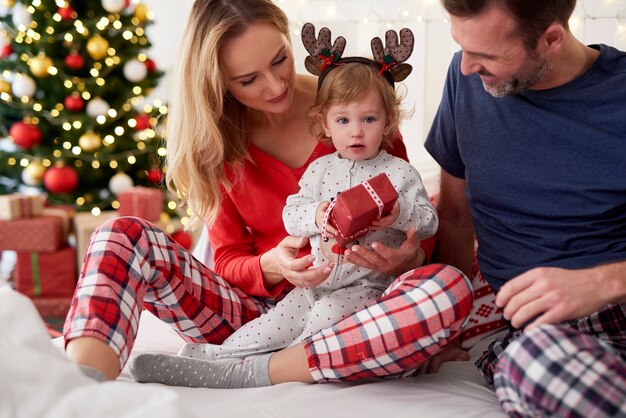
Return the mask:
[[305,23],[302,27],[302,43],[310,54],[304,60],[304,66],[311,74],[320,75],[326,66],[339,61],[346,49],[346,39],[343,36],[337,37],[332,46],[330,38],[330,29],[326,27],[320,29],[317,38],[315,26],[311,23]]

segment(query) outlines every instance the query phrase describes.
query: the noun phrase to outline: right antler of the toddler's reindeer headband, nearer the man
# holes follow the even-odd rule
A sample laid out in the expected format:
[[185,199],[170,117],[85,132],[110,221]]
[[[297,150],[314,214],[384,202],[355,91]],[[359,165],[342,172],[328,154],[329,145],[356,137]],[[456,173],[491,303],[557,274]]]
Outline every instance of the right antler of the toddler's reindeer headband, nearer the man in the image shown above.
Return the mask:
[[374,59],[383,66],[381,72],[389,71],[394,81],[404,80],[413,69],[409,64],[402,64],[413,53],[415,38],[410,29],[404,28],[400,30],[400,43],[398,43],[398,34],[394,30],[388,30],[385,33],[385,47],[380,38],[372,39],[372,54]]

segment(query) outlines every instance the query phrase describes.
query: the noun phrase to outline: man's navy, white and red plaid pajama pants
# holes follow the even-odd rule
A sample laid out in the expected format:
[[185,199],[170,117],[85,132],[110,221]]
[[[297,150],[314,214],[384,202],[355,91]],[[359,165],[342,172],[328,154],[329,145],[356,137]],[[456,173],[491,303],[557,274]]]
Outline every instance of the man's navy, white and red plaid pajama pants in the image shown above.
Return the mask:
[[509,332],[476,362],[513,417],[626,417],[626,305]]

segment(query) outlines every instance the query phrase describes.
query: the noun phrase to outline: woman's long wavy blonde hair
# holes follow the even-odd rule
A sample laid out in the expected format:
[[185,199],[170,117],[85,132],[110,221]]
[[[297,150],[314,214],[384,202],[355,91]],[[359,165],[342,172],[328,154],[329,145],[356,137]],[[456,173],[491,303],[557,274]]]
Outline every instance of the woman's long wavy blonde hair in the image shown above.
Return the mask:
[[224,168],[249,158],[247,108],[227,91],[220,65],[225,42],[255,22],[289,38],[285,13],[270,0],[196,0],[180,43],[167,120],[166,184],[193,216],[211,225],[219,211]]

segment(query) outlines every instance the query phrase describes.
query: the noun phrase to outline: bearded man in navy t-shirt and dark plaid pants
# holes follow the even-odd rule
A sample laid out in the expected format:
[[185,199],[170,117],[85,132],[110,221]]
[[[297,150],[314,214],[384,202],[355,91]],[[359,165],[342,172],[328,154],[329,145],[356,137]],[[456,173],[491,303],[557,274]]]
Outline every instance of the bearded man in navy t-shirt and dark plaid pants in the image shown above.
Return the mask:
[[626,54],[575,0],[442,2],[437,261],[467,274],[475,234],[511,325],[477,364],[512,416],[626,416]]

